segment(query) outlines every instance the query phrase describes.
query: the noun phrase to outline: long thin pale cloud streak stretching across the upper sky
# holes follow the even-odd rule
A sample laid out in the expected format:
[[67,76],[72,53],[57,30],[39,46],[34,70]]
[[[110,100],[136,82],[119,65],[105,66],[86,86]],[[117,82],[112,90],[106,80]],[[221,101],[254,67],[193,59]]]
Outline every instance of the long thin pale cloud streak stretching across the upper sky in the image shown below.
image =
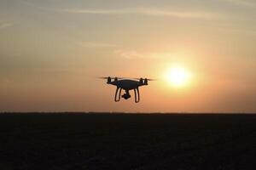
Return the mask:
[[218,14],[197,13],[197,12],[177,12],[172,10],[161,10],[156,8],[123,8],[123,9],[60,9],[60,12],[70,14],[143,14],[162,17],[177,18],[215,18]]

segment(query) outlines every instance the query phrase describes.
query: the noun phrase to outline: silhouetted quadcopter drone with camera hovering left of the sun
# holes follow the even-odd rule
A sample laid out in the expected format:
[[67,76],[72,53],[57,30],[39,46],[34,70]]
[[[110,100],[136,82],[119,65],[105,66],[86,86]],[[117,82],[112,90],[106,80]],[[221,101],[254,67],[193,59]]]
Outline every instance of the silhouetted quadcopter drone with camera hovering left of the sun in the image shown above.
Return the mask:
[[[134,90],[135,103],[140,101],[139,87],[147,86],[148,81],[154,81],[154,79],[148,78],[124,78],[124,77],[99,77],[101,79],[107,79],[107,84],[116,86],[114,101],[119,102],[121,97],[124,99],[130,99],[130,90]],[[125,90],[125,94],[121,96],[122,90]]]

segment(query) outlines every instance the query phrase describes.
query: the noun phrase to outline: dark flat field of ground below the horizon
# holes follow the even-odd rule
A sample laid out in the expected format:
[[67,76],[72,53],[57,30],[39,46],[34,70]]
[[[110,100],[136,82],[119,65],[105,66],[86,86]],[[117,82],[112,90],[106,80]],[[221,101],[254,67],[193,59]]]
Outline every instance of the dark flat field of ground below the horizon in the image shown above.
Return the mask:
[[0,114],[0,169],[256,169],[256,115]]

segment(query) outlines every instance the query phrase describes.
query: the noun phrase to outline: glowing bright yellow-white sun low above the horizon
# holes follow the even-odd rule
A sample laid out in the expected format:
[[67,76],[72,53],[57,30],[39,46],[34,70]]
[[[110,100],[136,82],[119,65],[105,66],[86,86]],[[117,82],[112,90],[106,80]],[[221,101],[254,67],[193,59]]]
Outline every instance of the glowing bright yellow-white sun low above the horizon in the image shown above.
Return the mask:
[[190,73],[182,66],[173,66],[166,71],[166,80],[175,88],[182,88],[189,84]]

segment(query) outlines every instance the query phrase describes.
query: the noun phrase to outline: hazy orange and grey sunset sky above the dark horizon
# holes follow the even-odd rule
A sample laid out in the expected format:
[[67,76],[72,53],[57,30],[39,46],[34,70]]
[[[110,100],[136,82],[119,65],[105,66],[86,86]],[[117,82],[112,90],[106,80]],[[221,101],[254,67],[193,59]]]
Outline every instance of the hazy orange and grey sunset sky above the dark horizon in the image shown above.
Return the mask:
[[[254,0],[1,0],[0,111],[256,112],[255,20]],[[108,76],[157,81],[115,103]]]

